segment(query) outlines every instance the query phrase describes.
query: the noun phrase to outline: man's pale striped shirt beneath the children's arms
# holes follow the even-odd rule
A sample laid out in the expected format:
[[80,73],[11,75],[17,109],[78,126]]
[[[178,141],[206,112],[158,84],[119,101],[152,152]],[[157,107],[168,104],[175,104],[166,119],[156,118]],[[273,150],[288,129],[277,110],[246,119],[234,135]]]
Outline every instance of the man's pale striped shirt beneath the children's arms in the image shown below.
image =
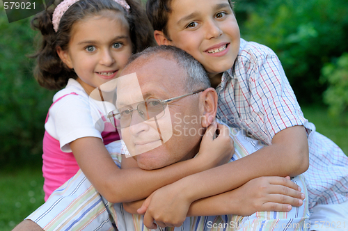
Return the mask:
[[[230,128],[230,136],[235,145],[235,154],[231,161],[264,147],[261,141],[245,136],[244,131],[240,129]],[[120,167],[120,141],[106,145],[106,148]],[[165,230],[308,230],[308,195],[304,177],[300,175],[292,181],[301,186],[306,199],[301,207],[293,207],[290,212],[256,212],[251,216],[188,217],[180,228]],[[28,219],[44,230],[113,230],[111,221],[115,221],[118,230],[148,230],[143,225],[143,216],[125,212],[121,203],[107,202],[97,193],[81,170],[54,191],[47,202]]]

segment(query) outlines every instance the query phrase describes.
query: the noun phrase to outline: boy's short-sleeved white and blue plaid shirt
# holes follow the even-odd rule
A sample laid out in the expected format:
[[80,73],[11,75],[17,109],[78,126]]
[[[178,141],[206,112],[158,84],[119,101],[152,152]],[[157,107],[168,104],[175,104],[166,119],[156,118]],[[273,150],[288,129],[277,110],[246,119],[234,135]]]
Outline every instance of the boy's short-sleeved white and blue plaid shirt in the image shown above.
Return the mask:
[[306,127],[310,167],[304,175],[310,209],[317,203],[348,200],[348,157],[329,138],[315,132],[315,126],[303,117],[274,51],[241,39],[235,65],[223,73],[216,91],[217,118],[268,145],[277,132],[287,127]]

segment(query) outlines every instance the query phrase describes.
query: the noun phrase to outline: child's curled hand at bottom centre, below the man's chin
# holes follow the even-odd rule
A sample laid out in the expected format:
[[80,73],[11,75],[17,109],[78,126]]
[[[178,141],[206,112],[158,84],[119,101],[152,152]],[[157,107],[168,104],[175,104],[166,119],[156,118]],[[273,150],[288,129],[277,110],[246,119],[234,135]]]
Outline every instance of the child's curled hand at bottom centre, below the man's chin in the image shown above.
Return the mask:
[[157,189],[137,210],[139,214],[145,213],[143,223],[147,228],[156,229],[157,225],[161,228],[179,227],[184,223],[191,202],[176,189],[175,183]]

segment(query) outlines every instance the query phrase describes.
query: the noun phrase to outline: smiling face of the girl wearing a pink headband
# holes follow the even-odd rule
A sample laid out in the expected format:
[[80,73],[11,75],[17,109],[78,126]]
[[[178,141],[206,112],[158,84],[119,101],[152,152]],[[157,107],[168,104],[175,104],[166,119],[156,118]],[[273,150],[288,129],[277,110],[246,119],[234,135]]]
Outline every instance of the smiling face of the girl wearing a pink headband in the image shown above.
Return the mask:
[[129,26],[121,13],[88,17],[72,26],[67,51],[58,47],[62,61],[73,68],[88,95],[115,79],[132,54]]

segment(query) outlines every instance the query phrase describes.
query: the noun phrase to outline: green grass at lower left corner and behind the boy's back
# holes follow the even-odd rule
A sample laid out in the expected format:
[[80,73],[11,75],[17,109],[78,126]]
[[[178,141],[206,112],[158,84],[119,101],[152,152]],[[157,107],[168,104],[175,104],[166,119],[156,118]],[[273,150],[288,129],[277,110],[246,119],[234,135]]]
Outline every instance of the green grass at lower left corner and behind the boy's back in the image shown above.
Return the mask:
[[[305,117],[348,154],[348,125],[327,116],[318,106],[302,108]],[[17,223],[44,202],[43,178],[40,168],[17,168],[0,171],[0,231],[12,230]]]

